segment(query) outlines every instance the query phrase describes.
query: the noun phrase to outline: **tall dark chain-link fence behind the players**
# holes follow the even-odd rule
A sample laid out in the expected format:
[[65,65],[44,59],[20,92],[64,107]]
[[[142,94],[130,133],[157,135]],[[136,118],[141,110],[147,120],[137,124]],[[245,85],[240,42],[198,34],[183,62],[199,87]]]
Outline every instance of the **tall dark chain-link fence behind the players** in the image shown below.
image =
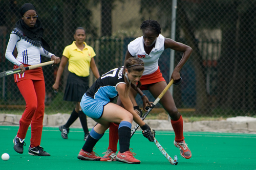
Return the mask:
[[[24,3],[27,1],[0,0],[0,72],[13,68],[5,59],[5,50]],[[168,38],[172,35],[172,23],[176,23],[175,40],[194,50],[181,70],[182,84],[173,87],[180,112],[184,116],[255,116],[255,0],[178,0],[177,6],[165,0],[31,0],[30,3],[37,9],[45,29],[44,38],[56,56],[61,57],[65,46],[72,43],[75,28],[86,29],[86,42],[96,52],[100,74],[123,64],[127,44],[142,36],[141,21],[158,20],[163,36]],[[176,17],[172,16],[174,9]],[[17,55],[16,51],[13,54]],[[166,81],[172,64],[170,54],[170,50],[165,50],[159,60]],[[181,56],[175,52],[175,66]],[[41,57],[41,62],[48,60]],[[67,68],[59,92],[55,94],[52,90],[57,68],[43,68],[46,114],[69,113],[74,108],[74,104],[62,100]],[[90,84],[94,81],[90,75]],[[0,79],[0,105],[0,113],[22,113],[25,108],[13,76]]]

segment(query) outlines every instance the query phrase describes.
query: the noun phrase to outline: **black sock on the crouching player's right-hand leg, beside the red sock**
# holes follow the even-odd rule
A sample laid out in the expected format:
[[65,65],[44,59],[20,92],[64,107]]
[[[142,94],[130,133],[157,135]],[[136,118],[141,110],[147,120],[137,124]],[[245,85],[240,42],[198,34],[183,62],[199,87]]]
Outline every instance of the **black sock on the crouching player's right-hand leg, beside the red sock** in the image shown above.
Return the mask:
[[119,152],[123,153],[125,151],[129,151],[130,148],[130,139],[131,139],[131,128],[129,127],[121,127],[118,129],[119,136]]

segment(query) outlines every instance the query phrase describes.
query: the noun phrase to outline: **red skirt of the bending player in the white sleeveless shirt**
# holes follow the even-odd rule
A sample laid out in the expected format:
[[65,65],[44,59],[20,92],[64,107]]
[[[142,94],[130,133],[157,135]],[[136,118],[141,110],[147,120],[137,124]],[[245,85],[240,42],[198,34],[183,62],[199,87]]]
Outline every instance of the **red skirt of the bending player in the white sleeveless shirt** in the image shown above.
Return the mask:
[[162,81],[165,82],[165,80],[163,78],[163,75],[162,75],[162,73],[161,73],[161,71],[158,67],[158,69],[155,72],[153,72],[152,74],[145,75],[145,76],[142,76],[140,78],[140,82],[141,82],[141,85],[142,85],[140,87],[140,89],[141,90],[147,90],[148,85],[153,84],[153,83],[157,83],[157,82],[162,82]]

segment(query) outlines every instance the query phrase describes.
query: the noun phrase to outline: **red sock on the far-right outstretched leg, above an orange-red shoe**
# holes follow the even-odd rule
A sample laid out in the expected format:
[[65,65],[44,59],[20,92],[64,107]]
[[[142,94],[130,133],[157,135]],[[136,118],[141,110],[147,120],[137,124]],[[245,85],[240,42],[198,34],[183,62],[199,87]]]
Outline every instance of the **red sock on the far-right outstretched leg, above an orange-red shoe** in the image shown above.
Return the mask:
[[170,123],[172,123],[173,129],[174,129],[175,141],[181,142],[182,140],[184,140],[182,116],[180,115],[180,118],[176,121],[170,120]]

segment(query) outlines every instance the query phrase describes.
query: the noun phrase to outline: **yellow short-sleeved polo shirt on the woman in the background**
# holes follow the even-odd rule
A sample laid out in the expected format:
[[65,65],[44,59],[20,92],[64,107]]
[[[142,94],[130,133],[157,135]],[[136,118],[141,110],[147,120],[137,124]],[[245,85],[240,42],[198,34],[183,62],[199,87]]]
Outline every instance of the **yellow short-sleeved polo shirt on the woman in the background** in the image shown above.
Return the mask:
[[87,77],[90,75],[90,63],[92,57],[96,56],[93,48],[83,42],[84,48],[80,50],[75,41],[71,45],[65,47],[63,56],[69,59],[69,71],[77,76]]

